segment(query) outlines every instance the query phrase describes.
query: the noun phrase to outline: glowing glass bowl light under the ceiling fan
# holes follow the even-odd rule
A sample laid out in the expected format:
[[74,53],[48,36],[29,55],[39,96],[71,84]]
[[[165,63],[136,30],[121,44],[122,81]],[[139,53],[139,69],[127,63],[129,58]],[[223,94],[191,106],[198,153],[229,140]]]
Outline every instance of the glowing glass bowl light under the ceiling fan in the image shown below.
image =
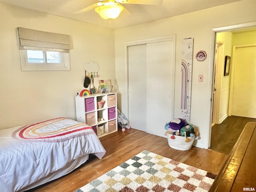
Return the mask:
[[115,19],[119,16],[122,10],[124,10],[124,7],[118,3],[105,3],[104,5],[95,8],[95,11],[103,19]]

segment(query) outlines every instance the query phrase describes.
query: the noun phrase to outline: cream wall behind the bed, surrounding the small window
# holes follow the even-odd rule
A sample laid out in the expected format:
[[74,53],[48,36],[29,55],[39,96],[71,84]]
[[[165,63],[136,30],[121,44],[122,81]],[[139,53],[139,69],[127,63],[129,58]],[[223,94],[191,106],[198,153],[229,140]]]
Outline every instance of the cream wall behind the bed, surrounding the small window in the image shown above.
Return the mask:
[[[114,31],[0,3],[0,129],[56,117],[76,118],[83,65],[100,66],[99,79],[115,81]],[[16,28],[70,35],[70,71],[21,71]]]

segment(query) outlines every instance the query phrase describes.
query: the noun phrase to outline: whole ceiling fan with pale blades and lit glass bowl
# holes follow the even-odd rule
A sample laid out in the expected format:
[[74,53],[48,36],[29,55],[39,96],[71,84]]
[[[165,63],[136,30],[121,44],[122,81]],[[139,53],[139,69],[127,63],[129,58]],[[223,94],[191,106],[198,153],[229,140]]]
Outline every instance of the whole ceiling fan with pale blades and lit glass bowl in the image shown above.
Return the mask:
[[96,4],[83,8],[76,14],[84,13],[94,9],[103,19],[112,20],[119,16],[124,10],[122,4],[144,4],[144,5],[160,5],[163,0],[98,0]]

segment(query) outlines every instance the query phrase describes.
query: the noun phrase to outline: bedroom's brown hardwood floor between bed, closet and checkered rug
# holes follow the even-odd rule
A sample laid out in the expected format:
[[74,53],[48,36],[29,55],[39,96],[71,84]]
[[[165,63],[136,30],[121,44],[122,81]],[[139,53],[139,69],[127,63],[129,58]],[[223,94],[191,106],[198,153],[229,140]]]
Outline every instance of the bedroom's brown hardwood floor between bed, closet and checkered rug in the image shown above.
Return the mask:
[[125,132],[118,129],[118,132],[104,136],[100,141],[106,149],[102,160],[92,155],[86,163],[70,174],[29,192],[73,192],[142,150],[154,152],[213,174],[218,174],[227,158],[226,154],[194,146],[188,151],[174,150],[168,146],[166,138],[134,129]]

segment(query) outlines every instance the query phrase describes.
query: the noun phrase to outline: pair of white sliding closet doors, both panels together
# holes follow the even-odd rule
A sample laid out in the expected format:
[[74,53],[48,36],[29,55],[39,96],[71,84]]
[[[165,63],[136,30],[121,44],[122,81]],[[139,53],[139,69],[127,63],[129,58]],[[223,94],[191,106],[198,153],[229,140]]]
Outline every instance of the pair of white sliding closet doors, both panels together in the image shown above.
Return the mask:
[[164,136],[174,117],[174,40],[128,46],[129,122]]

